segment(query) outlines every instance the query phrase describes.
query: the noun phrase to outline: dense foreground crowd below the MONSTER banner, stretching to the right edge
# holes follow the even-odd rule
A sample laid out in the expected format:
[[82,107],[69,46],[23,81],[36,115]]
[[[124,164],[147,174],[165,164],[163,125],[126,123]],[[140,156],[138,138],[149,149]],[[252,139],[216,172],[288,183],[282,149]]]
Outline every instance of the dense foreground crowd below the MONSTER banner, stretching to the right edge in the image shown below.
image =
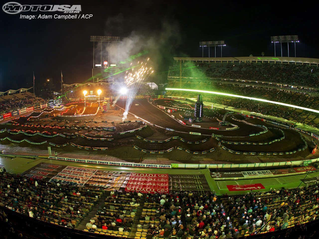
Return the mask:
[[230,197],[213,192],[147,195],[145,204],[154,213],[140,218],[137,232],[143,228],[147,239],[225,239],[272,232],[316,220],[318,200],[318,186]]

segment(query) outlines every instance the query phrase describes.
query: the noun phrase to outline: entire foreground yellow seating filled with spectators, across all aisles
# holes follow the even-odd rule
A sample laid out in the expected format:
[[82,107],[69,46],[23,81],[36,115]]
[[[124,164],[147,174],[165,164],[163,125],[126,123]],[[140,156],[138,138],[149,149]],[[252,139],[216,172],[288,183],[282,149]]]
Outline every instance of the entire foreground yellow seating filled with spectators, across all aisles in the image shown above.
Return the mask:
[[[99,190],[54,185],[9,173],[0,176],[0,184],[0,206],[68,228],[76,227],[101,196]],[[84,231],[135,239],[263,234],[316,220],[318,192],[317,185],[242,196],[112,192]]]

